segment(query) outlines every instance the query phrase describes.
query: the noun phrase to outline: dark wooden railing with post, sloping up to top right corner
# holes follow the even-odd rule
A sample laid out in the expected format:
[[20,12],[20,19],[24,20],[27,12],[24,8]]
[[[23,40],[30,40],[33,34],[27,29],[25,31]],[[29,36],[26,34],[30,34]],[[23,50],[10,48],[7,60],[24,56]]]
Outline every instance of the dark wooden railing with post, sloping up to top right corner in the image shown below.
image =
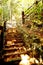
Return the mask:
[[[33,7],[35,7],[34,5],[37,5],[40,1],[41,1],[41,0],[34,2],[34,3],[32,4],[32,6],[30,6],[25,12],[22,11],[22,22],[23,22],[23,24],[24,24],[24,22],[25,22],[25,19],[26,19],[27,17],[29,17],[29,16],[34,12],[34,11],[32,10]],[[35,10],[35,9],[36,9],[36,8],[34,8],[34,10]],[[31,10],[32,10],[32,11],[31,11]],[[30,11],[31,11],[31,12],[30,12]]]

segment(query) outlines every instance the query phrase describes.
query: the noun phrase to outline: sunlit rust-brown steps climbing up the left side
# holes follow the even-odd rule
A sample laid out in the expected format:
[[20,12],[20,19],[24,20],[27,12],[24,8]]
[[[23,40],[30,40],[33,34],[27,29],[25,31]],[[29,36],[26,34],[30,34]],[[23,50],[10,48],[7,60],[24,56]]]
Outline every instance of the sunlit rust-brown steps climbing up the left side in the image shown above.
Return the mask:
[[[9,29],[10,30],[10,29]],[[14,29],[15,30],[15,29]],[[4,61],[20,60],[20,55],[26,52],[22,34],[10,30],[6,31],[5,45],[4,45]]]

